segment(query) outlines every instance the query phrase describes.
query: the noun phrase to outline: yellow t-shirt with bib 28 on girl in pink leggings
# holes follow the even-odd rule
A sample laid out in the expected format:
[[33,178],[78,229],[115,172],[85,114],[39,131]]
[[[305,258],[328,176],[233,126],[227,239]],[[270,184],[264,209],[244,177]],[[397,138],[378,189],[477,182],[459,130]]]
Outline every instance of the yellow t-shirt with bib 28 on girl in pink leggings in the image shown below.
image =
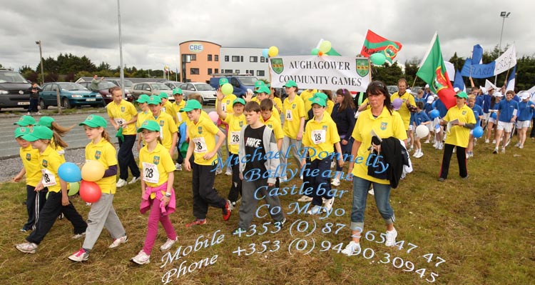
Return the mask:
[[143,146],[139,151],[139,167],[143,171],[143,181],[148,186],[158,187],[169,179],[169,172],[175,171],[175,163],[169,151],[160,143],[153,151]]

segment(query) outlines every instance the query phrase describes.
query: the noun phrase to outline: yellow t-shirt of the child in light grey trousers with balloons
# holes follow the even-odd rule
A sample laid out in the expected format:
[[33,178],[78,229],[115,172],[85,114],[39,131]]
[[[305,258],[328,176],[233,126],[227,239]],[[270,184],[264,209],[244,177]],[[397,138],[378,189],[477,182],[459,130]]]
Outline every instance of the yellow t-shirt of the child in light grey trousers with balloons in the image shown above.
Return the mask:
[[[93,144],[93,141],[91,141],[86,146],[86,161],[88,160],[100,162],[104,166],[104,169],[117,165],[117,151],[115,146],[106,141],[106,139],[101,139],[101,141],[98,141],[96,144]],[[101,187],[102,193],[115,194],[117,188],[116,178],[116,175],[108,176],[95,181],[95,183]]]

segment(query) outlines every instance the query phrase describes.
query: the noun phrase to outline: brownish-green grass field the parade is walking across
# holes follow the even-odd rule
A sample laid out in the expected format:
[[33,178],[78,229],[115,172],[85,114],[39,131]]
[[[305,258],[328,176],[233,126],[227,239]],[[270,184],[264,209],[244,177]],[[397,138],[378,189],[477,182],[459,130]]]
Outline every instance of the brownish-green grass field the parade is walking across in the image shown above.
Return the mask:
[[[282,230],[272,224],[264,228],[271,221],[267,215],[253,221],[256,233],[248,231],[250,236],[239,238],[231,234],[238,211],[223,222],[220,209],[210,208],[207,224],[185,228],[193,220],[191,174],[175,172],[179,198],[171,221],[178,243],[169,255],[161,253],[165,234],[160,227],[146,266],[130,261],[146,233],[147,216],[138,211],[139,184],[118,189],[114,201],[129,241],[108,249],[112,240],[104,230],[89,261],[76,264],[67,257],[83,240],[71,239],[72,226],[65,219],[56,221],[37,254],[15,249],[27,235],[19,231],[26,221],[26,194],[24,183],[4,183],[0,284],[534,284],[535,228],[530,217],[535,204],[535,143],[528,139],[524,149],[510,146],[498,155],[491,154],[492,148],[480,140],[468,162],[468,181],[459,178],[454,156],[449,179],[441,183],[437,175],[442,151],[424,144],[424,156],[413,160],[414,172],[392,190],[397,246],[379,243],[384,224],[369,196],[362,252],[351,257],[338,253],[350,241],[349,181],[338,187],[349,192],[336,199],[339,210],[327,218],[288,214],[288,206],[300,195],[282,196],[287,214]],[[291,182],[282,186],[301,184],[298,178]],[[230,176],[216,177],[215,188],[224,196],[229,185]],[[79,198],[72,201],[86,219],[89,207]],[[267,214],[265,208],[260,214]]]

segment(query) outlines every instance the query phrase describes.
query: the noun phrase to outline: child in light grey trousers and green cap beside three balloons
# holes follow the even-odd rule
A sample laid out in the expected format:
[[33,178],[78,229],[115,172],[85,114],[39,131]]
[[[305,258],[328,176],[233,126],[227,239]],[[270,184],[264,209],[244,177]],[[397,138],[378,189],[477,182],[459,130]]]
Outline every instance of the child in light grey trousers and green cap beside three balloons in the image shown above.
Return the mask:
[[86,161],[98,161],[105,171],[104,176],[95,181],[102,194],[98,201],[91,204],[83,245],[80,250],[68,256],[68,259],[75,262],[89,259],[89,251],[93,249],[103,227],[106,227],[113,238],[113,243],[108,246],[110,249],[128,241],[123,224],[113,209],[113,197],[116,192],[117,151],[115,146],[110,143],[110,136],[106,131],[108,126],[106,119],[97,115],[89,115],[80,125],[83,126],[88,139],[91,139],[91,142],[86,146]]

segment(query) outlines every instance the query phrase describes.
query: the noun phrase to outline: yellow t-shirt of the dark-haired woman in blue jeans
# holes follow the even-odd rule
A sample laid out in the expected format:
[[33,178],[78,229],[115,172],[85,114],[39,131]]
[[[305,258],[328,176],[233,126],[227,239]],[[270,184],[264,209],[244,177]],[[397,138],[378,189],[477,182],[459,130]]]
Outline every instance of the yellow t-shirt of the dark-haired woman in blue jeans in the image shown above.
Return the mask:
[[[401,116],[399,116],[399,113],[392,111],[392,114],[389,114],[388,109],[384,107],[382,113],[377,116],[377,118],[374,118],[371,109],[362,111],[355,124],[355,129],[353,129],[353,133],[351,134],[355,141],[360,141],[362,143],[357,151],[357,157],[355,157],[355,166],[353,166],[352,174],[372,182],[390,184],[387,179],[377,179],[368,175],[368,166],[366,163],[368,156],[370,155],[368,147],[372,145],[372,130],[381,139],[393,136],[400,140],[407,139],[407,131],[405,131],[403,120],[401,119]],[[375,157],[372,157],[370,163],[372,163],[374,159]]]

